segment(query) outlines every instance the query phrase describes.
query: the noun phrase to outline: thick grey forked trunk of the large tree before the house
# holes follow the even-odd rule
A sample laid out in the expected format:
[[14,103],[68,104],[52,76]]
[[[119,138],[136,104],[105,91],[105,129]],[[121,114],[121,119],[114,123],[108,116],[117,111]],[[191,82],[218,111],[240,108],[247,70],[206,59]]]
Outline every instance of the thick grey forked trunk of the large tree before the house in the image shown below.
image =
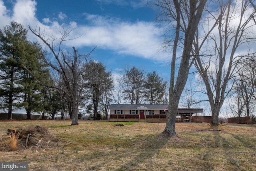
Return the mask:
[[[180,2],[178,0],[173,0],[174,6],[176,8],[176,14],[180,14]],[[204,6],[206,4],[207,0],[190,0],[190,9],[189,9],[189,19],[188,19],[188,25],[187,29],[185,31],[184,36],[184,48],[182,53],[182,58],[180,62],[180,67],[178,71],[178,77],[176,80],[176,84],[174,86],[174,89],[172,89],[173,83],[170,82],[170,95],[169,95],[169,104],[168,104],[168,113],[166,115],[166,127],[163,131],[163,133],[168,133],[171,136],[176,135],[175,131],[175,121],[178,111],[178,104],[180,101],[180,96],[182,94],[182,91],[185,87],[187,78],[188,78],[188,72],[190,69],[190,58],[191,58],[191,51],[192,51],[192,44],[194,41],[195,33],[198,28],[198,23],[201,19],[202,12],[204,10]],[[198,6],[197,6],[198,4]],[[185,15],[185,14],[184,14]],[[179,21],[178,21],[179,22]],[[177,24],[179,25],[179,23]],[[177,32],[177,30],[176,30]],[[177,34],[177,33],[176,33]],[[174,47],[175,49],[177,47]],[[176,51],[175,51],[176,53]],[[172,58],[172,63],[174,58]],[[173,65],[172,65],[173,67]],[[171,72],[174,74],[175,68],[171,68]],[[171,78],[174,79],[174,75],[171,75]],[[171,80],[172,81],[172,80]]]

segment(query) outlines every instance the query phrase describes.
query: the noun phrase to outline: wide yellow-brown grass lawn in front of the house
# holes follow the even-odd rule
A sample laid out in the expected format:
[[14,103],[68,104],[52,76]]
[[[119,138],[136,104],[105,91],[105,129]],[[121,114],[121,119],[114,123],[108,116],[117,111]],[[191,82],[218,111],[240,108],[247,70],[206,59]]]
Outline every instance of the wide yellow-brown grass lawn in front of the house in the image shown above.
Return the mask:
[[[125,126],[115,126],[116,123]],[[253,171],[256,125],[108,121],[0,121],[0,161],[26,161],[29,171]],[[10,151],[8,128],[39,125],[48,134],[18,139]],[[39,141],[38,141],[39,140]]]

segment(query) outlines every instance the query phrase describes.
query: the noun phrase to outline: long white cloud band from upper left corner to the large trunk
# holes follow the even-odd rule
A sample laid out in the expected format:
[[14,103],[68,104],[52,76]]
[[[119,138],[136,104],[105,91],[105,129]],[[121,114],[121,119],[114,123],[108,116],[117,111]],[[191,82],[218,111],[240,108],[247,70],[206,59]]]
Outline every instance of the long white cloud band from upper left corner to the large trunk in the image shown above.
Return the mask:
[[[2,26],[16,21],[22,23],[25,28],[28,25],[32,28],[40,26],[41,32],[44,30],[46,35],[54,35],[57,39],[61,37],[59,30],[62,28],[74,29],[68,38],[76,38],[66,42],[66,46],[98,46],[98,48],[112,50],[119,54],[134,55],[156,61],[166,60],[167,54],[157,53],[161,48],[162,29],[154,22],[137,21],[135,23],[121,21],[119,18],[84,14],[87,25],[77,24],[74,21],[70,23],[60,23],[55,19],[44,18],[40,22],[36,18],[36,1],[18,0],[14,4],[13,11],[7,13],[2,0],[0,0],[0,18]],[[9,16],[7,15],[9,14]],[[60,12],[59,19],[64,20],[68,16]],[[36,37],[29,33],[29,38],[36,40]]]

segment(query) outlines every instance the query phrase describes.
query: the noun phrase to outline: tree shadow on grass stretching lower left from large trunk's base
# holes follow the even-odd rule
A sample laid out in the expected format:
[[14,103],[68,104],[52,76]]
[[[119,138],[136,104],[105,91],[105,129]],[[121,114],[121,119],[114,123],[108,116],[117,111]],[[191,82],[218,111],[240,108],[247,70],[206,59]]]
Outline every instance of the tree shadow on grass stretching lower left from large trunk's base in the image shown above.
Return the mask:
[[[116,171],[137,170],[140,163],[157,156],[169,139],[170,136],[164,134],[138,135],[126,143],[115,144],[110,153],[96,150],[95,153],[84,156],[83,160],[88,161],[99,156],[101,159],[104,158],[100,163],[91,165],[88,170],[98,170],[102,167]],[[112,162],[116,162],[116,165],[109,165]]]

